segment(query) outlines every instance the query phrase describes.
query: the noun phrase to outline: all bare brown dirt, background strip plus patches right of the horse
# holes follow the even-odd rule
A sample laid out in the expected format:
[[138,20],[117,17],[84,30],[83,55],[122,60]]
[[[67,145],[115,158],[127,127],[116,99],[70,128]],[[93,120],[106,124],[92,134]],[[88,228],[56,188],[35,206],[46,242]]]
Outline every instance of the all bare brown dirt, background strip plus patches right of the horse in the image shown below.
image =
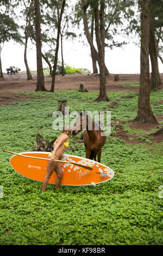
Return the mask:
[[[139,92],[139,87],[122,86],[123,83],[135,83],[139,82],[140,74],[119,74],[120,81],[114,81],[114,76],[106,77],[106,92]],[[0,105],[8,105],[18,100],[29,99],[29,96],[17,94],[17,91],[34,92],[36,89],[36,74],[33,73],[33,80],[27,81],[27,75],[25,72],[20,72],[15,75],[4,74],[4,78],[0,78]],[[163,89],[163,74],[160,74]],[[45,87],[47,90],[51,88],[51,76],[45,75]],[[79,89],[80,83],[83,84],[84,89],[89,92],[99,92],[99,74],[73,74],[65,76],[56,76],[54,92],[57,90],[72,90]],[[162,104],[163,101],[159,103]],[[114,107],[112,104],[108,105],[108,108]],[[156,115],[156,119],[163,121],[163,115]],[[130,129],[142,129],[145,131],[145,136],[149,134],[153,128],[158,128],[158,125],[153,124],[137,124],[133,120],[130,120]],[[140,143],[139,139],[131,136],[121,129],[118,124],[118,130],[116,137],[122,137],[127,143]],[[133,140],[134,139],[134,140]],[[162,135],[154,136],[152,142],[160,142],[163,139]],[[145,142],[141,142],[145,143]]]

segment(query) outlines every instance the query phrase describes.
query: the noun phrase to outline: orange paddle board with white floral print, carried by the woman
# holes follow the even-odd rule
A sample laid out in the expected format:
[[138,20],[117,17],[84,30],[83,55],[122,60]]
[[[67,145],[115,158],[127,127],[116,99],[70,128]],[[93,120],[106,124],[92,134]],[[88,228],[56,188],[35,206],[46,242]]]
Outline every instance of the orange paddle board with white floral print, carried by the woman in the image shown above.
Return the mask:
[[[35,156],[48,158],[48,152],[24,152],[20,153],[26,156]],[[82,185],[96,185],[110,180],[114,176],[114,172],[109,167],[96,161],[85,159],[80,156],[66,155],[61,159],[62,161],[70,161],[74,163],[83,164],[89,166],[93,170],[87,170],[82,167],[76,166],[71,163],[61,163],[63,172],[61,185],[67,186],[82,186]],[[10,164],[12,168],[19,174],[36,181],[43,181],[46,174],[47,160],[30,159],[14,155],[10,158]],[[49,179],[50,184],[55,184],[57,174],[53,172]]]

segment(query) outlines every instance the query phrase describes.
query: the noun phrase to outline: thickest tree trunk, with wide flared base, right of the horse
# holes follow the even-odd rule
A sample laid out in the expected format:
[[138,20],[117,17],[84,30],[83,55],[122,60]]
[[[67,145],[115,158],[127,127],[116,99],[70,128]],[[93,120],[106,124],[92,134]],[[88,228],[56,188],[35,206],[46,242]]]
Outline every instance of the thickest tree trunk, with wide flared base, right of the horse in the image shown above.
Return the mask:
[[141,14],[141,56],[140,56],[140,90],[138,111],[135,121],[140,123],[156,123],[150,106],[150,77],[149,77],[149,27],[151,16],[151,1],[142,1]]

